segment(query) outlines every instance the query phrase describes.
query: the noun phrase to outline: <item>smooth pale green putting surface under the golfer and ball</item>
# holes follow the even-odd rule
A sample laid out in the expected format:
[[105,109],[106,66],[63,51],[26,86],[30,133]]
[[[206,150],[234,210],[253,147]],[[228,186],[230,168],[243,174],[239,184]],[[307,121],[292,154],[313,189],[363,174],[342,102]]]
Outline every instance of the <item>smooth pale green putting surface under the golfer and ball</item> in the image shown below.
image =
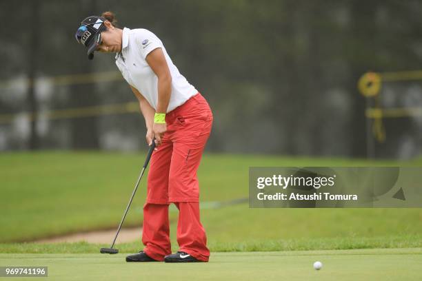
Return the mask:
[[[37,280],[421,280],[422,249],[212,253],[193,264],[127,263],[125,254],[0,254],[0,266],[46,266]],[[320,271],[312,264],[323,263]],[[13,278],[28,280],[28,278]]]

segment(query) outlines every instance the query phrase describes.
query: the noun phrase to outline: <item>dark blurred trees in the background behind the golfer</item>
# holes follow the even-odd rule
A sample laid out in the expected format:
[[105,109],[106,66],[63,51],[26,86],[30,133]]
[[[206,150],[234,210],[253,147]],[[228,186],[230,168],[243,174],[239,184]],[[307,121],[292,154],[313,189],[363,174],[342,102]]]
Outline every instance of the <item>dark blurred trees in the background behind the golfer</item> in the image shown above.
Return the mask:
[[[117,70],[114,55],[88,61],[74,40],[82,19],[106,10],[121,28],[157,34],[208,99],[208,152],[365,156],[359,77],[417,70],[422,59],[421,1],[2,0],[0,115],[8,121],[0,123],[0,150],[145,148],[140,114],[48,118],[50,110],[135,101],[123,80],[45,79]],[[385,84],[383,94],[385,106],[422,105],[418,81]],[[387,121],[376,156],[419,154],[421,121]]]

